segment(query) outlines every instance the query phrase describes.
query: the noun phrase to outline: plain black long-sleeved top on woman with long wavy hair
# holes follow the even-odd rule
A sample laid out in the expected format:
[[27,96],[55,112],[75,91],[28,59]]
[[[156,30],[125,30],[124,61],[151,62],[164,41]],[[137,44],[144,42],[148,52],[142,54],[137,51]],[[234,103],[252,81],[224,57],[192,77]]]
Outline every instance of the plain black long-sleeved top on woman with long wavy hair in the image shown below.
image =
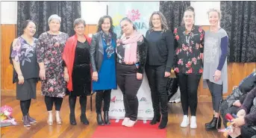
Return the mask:
[[146,41],[148,55],[146,64],[150,66],[166,66],[166,72],[171,72],[174,56],[174,38],[172,31],[147,31]]

